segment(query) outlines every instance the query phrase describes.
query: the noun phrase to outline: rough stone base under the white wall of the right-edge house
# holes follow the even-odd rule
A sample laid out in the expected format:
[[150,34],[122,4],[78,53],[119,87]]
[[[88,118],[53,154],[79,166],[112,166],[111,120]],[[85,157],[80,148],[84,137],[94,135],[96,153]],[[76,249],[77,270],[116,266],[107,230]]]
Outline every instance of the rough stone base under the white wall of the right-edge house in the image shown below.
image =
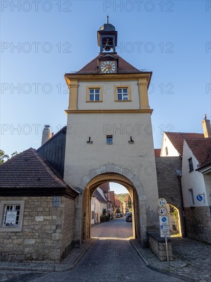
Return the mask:
[[185,208],[187,236],[211,244],[211,214],[209,207]]

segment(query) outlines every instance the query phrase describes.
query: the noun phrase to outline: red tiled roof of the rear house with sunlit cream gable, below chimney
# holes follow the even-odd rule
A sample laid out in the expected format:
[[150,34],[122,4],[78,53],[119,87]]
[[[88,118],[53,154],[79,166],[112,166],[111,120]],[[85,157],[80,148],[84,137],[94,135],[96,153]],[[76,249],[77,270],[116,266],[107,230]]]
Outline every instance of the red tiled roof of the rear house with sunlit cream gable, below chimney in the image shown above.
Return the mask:
[[184,139],[205,139],[202,133],[165,132],[175,149],[182,155]]

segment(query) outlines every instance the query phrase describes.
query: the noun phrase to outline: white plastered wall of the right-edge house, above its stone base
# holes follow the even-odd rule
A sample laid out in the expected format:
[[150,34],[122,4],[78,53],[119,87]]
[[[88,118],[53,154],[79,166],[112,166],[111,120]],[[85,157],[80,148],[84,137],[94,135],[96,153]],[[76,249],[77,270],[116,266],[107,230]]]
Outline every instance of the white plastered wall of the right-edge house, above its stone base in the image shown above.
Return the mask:
[[[193,160],[194,170],[189,172],[188,159],[191,157]],[[198,164],[199,164],[198,160],[196,159],[191,149],[189,149],[186,141],[184,140],[183,156],[182,156],[182,177],[181,177],[184,207],[208,206],[207,195],[206,195],[205,184],[204,184],[204,176],[202,173],[195,171],[197,169]],[[189,189],[193,189],[195,205],[190,204],[189,191],[188,191]],[[199,202],[196,197],[198,194],[203,194],[203,193],[205,196],[202,195],[203,199],[201,202]]]

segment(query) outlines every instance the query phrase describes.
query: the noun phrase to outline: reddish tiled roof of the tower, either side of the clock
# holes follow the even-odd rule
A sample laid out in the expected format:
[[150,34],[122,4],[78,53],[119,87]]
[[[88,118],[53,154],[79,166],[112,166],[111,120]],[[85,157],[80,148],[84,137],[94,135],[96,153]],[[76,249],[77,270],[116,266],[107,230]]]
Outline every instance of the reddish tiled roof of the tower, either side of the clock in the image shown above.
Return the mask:
[[[75,72],[75,73],[71,73],[72,74],[82,74],[82,73],[91,73],[91,72],[96,72],[98,73],[98,59],[101,58],[102,56],[105,56],[105,54],[99,54],[97,57],[95,57],[91,62],[89,62],[86,66],[82,67],[79,71]],[[122,57],[120,57],[117,54],[112,54],[112,56],[115,56],[119,59],[119,63],[118,63],[118,72],[119,73],[127,73],[127,71],[129,73],[142,73],[143,71],[135,68],[134,66],[132,66],[131,64],[129,64],[128,62],[126,62]]]

